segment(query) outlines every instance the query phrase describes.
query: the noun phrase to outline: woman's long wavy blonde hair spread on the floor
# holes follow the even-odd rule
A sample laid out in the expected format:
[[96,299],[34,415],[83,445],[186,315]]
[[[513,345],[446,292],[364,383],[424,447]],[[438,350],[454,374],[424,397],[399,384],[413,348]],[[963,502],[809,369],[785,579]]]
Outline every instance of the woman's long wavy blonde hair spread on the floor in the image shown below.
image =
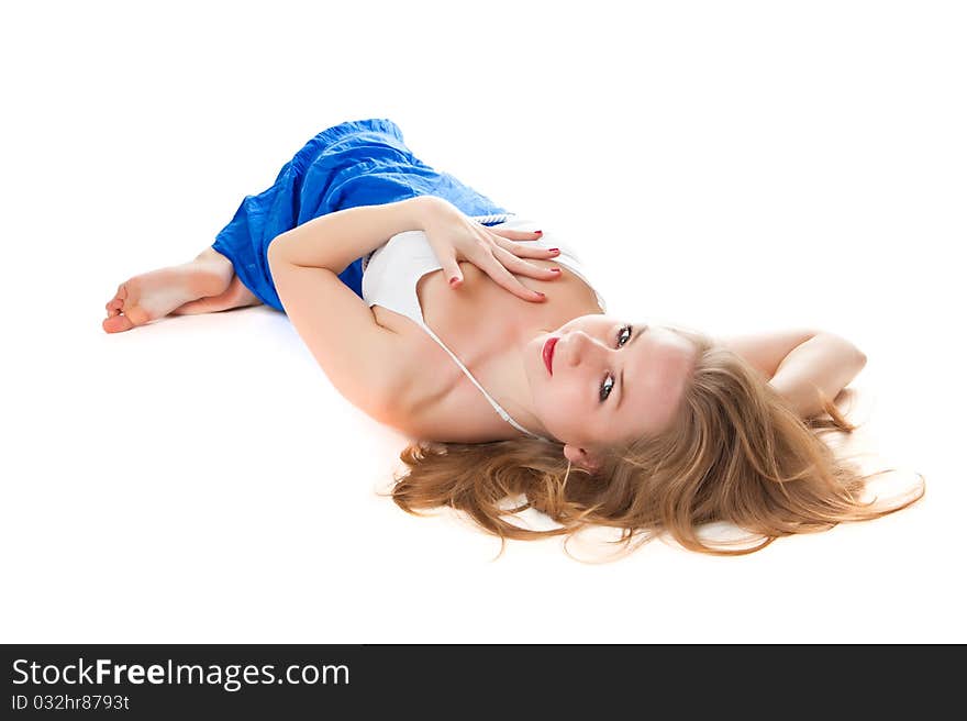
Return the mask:
[[[408,473],[394,475],[389,495],[416,515],[440,507],[467,513],[500,537],[498,557],[507,539],[571,536],[594,525],[621,529],[615,543],[626,552],[667,534],[691,551],[742,555],[780,536],[879,518],[923,497],[916,474],[915,488],[892,502],[864,499],[868,481],[892,469],[863,475],[824,442],[824,433],[859,428],[832,399],[824,399],[829,419],[803,421],[743,357],[707,335],[676,330],[699,348],[676,417],[660,434],[612,448],[596,473],[573,468],[562,444],[537,439],[420,441],[400,454]],[[559,525],[534,530],[507,520],[526,509]],[[703,537],[719,523],[745,531],[745,539]]]

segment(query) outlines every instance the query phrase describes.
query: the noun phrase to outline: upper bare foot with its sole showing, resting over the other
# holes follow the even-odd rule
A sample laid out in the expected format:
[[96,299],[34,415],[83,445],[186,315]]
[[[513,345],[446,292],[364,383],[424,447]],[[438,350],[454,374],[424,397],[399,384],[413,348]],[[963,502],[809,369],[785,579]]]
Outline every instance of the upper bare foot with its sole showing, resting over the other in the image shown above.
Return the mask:
[[[226,259],[227,260],[227,259]],[[185,303],[223,292],[232,279],[232,264],[194,260],[152,270],[125,280],[104,309],[101,323],[108,333],[130,331],[164,318]]]

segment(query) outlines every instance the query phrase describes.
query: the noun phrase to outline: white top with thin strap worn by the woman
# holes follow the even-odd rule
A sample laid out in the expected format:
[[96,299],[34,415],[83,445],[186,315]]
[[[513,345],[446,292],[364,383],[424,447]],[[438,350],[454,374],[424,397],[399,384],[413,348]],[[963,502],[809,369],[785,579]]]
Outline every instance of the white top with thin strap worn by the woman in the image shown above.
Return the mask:
[[[491,228],[501,228],[510,230],[537,230],[540,225],[534,221],[518,219],[513,213],[501,213],[497,215],[474,215],[474,220]],[[565,246],[560,241],[556,241],[553,234],[544,233],[536,241],[527,241],[527,244],[537,245],[538,247],[557,247],[560,255],[554,257],[556,263],[566,266],[569,270],[581,278],[589,287],[594,289],[594,285],[588,279],[587,271],[581,266],[580,260],[571,248]],[[484,387],[477,382],[477,379],[470,374],[467,367],[460,363],[460,359],[451,351],[436,333],[434,333],[426,322],[423,320],[423,309],[420,307],[420,299],[416,296],[416,284],[427,273],[443,268],[433,246],[426,240],[423,231],[405,231],[397,233],[385,245],[379,246],[373,253],[363,258],[363,299],[371,306],[382,306],[391,311],[401,313],[416,323],[426,333],[436,341],[440,346],[446,351],[454,362],[459,366],[460,370],[470,379],[470,381],[484,393],[484,397],[490,402],[500,417],[512,426],[535,439],[548,441],[542,435],[532,433],[514,421],[510,414],[501,408],[501,406],[490,397]],[[607,312],[604,299],[594,289],[598,298],[598,306],[602,312]]]

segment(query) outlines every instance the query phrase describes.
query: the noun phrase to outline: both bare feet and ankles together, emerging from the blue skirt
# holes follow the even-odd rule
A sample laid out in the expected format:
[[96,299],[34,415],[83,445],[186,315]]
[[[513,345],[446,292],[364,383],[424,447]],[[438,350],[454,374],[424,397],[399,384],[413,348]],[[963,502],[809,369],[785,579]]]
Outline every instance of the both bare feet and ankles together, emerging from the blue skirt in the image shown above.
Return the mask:
[[232,282],[232,262],[214,248],[205,248],[190,263],[134,276],[118,287],[104,309],[101,323],[108,333],[178,312],[192,314],[254,306],[258,300],[241,282]]

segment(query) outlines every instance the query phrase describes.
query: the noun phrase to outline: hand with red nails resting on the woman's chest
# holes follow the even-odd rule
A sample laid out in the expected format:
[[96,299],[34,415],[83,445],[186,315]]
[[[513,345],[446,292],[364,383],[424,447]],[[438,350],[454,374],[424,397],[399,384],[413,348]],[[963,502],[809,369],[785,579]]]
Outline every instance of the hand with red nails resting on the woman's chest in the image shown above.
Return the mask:
[[541,302],[544,295],[527,288],[513,274],[538,280],[560,277],[559,271],[522,259],[557,257],[556,251],[525,245],[527,241],[540,239],[540,231],[492,230],[465,215],[444,198],[421,196],[420,201],[425,203],[421,213],[422,230],[452,287],[464,281],[460,260],[473,263],[499,286],[532,302]]

